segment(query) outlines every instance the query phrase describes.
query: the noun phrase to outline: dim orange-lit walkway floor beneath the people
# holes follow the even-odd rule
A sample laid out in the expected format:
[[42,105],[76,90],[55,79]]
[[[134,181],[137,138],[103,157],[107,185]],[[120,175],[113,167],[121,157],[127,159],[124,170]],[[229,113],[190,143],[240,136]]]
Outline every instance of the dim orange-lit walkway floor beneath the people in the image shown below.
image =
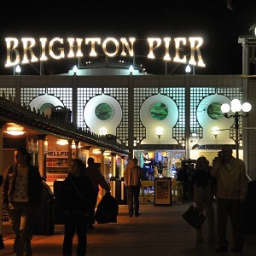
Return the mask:
[[[218,255],[214,252],[216,244],[196,243],[195,230],[185,223],[182,213],[189,203],[172,206],[141,205],[142,215],[128,217],[127,206],[119,206],[116,224],[96,224],[88,231],[87,255],[93,256],[167,256],[167,255]],[[3,226],[5,248],[1,256],[13,255],[13,239],[9,233],[9,224]],[[230,248],[233,246],[229,228]],[[61,255],[63,225],[55,225],[53,236],[33,236],[32,250],[34,256]],[[246,234],[244,252],[236,255],[255,255],[256,232]],[[77,239],[74,239],[74,253]],[[224,255],[234,255],[230,251]]]

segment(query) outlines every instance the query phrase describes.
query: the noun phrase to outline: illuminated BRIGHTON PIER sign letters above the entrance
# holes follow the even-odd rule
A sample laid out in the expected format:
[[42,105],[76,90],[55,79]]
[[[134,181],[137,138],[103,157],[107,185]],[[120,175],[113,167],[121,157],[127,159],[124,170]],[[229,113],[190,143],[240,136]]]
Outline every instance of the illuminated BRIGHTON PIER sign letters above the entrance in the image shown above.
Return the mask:
[[[200,37],[147,38],[144,41],[147,41],[144,48],[148,51],[148,59],[154,59],[157,50],[161,49],[163,54],[157,58],[163,61],[206,66],[201,56],[203,39]],[[108,57],[139,55],[135,53],[136,38],[5,38],[5,42],[5,67],[49,59],[82,58],[85,55],[96,57],[99,52]]]

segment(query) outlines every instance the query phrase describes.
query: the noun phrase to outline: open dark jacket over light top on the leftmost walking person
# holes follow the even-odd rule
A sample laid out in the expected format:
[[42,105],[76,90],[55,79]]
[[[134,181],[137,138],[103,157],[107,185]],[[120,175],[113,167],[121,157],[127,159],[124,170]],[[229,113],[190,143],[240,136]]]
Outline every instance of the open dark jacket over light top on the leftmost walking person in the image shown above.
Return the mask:
[[[12,203],[12,195],[15,189],[15,182],[17,177],[17,165],[9,166],[3,174],[3,192],[2,201],[3,208],[8,207],[9,202]],[[36,207],[42,200],[42,178],[38,168],[32,165],[28,165],[28,177],[27,177],[27,193],[29,203],[34,204]]]

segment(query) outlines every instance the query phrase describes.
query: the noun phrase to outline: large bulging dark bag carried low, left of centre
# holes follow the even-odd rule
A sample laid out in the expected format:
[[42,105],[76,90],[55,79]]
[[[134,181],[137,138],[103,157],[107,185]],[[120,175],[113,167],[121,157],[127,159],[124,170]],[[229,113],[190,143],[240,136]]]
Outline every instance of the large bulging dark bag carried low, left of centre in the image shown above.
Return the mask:
[[97,224],[116,223],[118,213],[118,201],[110,193],[106,193],[97,206],[95,219]]

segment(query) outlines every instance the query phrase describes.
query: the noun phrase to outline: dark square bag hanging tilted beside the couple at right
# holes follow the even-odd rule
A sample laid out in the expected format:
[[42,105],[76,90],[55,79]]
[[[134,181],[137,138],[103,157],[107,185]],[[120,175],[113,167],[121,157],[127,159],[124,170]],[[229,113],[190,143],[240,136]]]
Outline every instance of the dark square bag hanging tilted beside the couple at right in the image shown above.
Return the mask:
[[189,209],[183,213],[182,217],[196,230],[201,227],[201,224],[206,219],[206,216],[199,212],[193,205],[189,206]]

